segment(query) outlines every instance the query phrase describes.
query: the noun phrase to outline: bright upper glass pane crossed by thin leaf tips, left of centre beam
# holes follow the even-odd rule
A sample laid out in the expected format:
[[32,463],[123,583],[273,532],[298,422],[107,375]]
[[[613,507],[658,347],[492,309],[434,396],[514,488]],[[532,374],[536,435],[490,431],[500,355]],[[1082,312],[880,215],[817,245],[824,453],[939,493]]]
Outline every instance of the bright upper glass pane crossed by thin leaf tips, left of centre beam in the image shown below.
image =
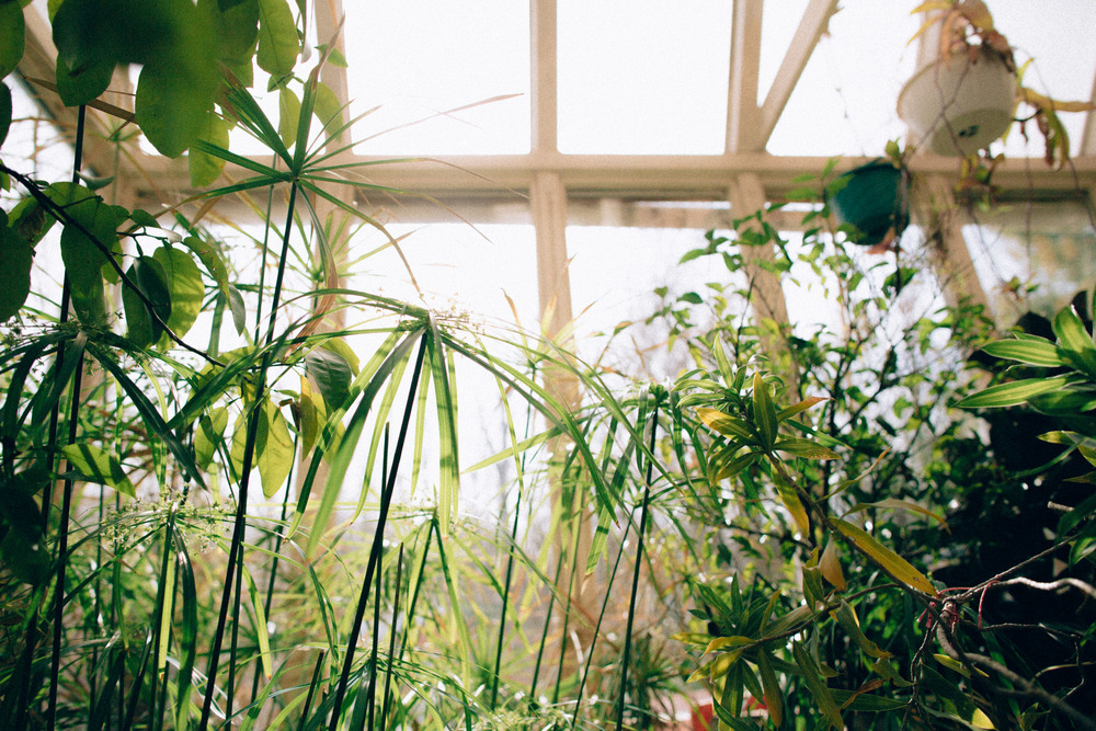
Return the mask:
[[[529,5],[481,0],[344,3],[351,115],[363,155],[530,148]],[[518,96],[479,104],[509,94]],[[410,125],[410,126],[408,126]]]

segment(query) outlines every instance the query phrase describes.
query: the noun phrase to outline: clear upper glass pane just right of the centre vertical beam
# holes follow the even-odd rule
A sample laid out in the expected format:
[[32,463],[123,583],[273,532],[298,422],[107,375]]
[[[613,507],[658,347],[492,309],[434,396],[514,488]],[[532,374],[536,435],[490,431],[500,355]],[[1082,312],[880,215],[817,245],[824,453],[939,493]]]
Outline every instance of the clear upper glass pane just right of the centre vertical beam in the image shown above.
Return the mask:
[[559,148],[718,155],[731,3],[559,0]]

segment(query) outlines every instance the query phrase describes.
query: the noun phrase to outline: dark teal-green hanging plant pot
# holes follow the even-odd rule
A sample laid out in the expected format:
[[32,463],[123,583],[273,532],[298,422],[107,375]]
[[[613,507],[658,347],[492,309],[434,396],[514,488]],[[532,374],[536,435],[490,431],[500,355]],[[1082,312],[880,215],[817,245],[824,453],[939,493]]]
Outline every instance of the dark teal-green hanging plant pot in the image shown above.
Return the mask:
[[869,162],[842,175],[830,208],[840,225],[855,227],[854,243],[875,247],[902,235],[910,224],[909,180],[890,162]]

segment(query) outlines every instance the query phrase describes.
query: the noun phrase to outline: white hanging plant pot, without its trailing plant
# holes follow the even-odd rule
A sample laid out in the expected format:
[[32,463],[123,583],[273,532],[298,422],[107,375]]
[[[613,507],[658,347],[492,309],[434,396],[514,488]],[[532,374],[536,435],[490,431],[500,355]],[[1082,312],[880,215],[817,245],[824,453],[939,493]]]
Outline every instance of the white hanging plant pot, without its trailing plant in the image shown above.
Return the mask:
[[1016,77],[1000,54],[961,48],[917,71],[898,98],[898,115],[937,155],[985,149],[1013,122]]

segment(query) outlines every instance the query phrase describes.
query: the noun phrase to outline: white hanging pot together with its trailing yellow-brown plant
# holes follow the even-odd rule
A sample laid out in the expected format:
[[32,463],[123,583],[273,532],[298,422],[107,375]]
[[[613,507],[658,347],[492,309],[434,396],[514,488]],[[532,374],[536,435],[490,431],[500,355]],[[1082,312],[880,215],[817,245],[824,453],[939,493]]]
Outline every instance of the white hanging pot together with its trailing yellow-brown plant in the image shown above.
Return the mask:
[[917,140],[937,155],[971,157],[1004,135],[1020,103],[1047,141],[1047,161],[1069,159],[1069,137],[1058,112],[1093,108],[1060,102],[1021,85],[1008,39],[996,30],[982,0],[929,0],[913,12],[933,13],[914,35],[938,34],[936,58],[899,94],[899,116]]

